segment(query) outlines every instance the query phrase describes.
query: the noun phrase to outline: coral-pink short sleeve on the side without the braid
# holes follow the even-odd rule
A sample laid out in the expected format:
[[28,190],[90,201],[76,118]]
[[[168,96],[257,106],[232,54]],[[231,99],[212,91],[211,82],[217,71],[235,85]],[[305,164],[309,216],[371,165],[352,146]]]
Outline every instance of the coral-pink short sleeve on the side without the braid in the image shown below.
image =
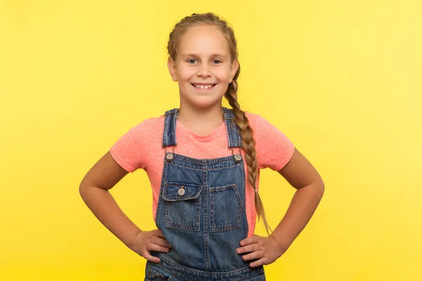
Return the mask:
[[132,173],[137,169],[143,169],[146,165],[145,153],[148,143],[147,120],[129,129],[110,148],[110,154],[123,169]]

